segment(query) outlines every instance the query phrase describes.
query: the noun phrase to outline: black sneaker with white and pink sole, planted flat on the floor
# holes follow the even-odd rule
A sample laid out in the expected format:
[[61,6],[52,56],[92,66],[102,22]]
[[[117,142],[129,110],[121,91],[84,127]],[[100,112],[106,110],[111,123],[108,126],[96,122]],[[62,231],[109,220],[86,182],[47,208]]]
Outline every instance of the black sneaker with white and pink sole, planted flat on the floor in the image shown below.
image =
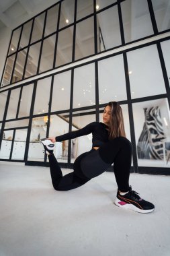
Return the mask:
[[123,207],[125,209],[133,210],[135,212],[140,212],[143,214],[153,212],[153,210],[155,209],[153,203],[150,203],[140,198],[136,191],[132,191],[132,187],[130,187],[130,190],[125,195],[120,195],[120,192],[118,191],[114,203],[119,207]]

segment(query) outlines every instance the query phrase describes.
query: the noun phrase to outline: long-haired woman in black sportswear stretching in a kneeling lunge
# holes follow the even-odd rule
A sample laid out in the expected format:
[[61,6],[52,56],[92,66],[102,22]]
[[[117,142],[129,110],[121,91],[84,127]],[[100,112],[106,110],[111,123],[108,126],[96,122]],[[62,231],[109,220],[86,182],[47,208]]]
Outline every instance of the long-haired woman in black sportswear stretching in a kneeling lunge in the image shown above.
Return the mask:
[[[81,154],[73,164],[74,171],[62,177],[62,171],[53,154],[54,142],[93,134],[92,149]],[[116,205],[136,212],[153,212],[153,203],[141,199],[129,186],[132,144],[126,139],[122,108],[118,102],[109,102],[103,111],[103,123],[93,122],[78,131],[42,140],[50,162],[54,189],[67,191],[87,183],[114,163],[118,185]]]

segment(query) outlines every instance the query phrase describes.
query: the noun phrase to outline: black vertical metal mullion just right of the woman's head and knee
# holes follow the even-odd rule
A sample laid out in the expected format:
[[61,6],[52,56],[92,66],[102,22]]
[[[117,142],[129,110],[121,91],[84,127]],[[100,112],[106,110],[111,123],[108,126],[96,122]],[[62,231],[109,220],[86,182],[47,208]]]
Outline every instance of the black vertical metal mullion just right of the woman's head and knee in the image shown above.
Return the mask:
[[131,135],[131,141],[132,141],[132,145],[133,145],[132,156],[133,156],[134,172],[138,172],[136,139],[135,139],[135,133],[134,133],[134,118],[133,118],[132,101],[131,101],[131,93],[130,93],[130,80],[129,80],[129,75],[128,75],[128,59],[127,59],[126,53],[123,53],[123,57],[124,57],[124,71],[125,71],[126,90],[127,90],[127,99],[128,99],[130,135]]

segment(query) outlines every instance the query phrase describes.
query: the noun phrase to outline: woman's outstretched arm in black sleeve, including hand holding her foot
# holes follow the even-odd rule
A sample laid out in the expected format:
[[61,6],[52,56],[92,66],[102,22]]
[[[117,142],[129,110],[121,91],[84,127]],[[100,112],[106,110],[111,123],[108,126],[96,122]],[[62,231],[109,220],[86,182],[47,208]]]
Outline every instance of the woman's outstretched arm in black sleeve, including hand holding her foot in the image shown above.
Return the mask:
[[89,123],[89,125],[86,125],[82,129],[79,129],[77,131],[71,131],[70,133],[65,133],[63,135],[56,136],[56,137],[49,137],[48,139],[50,139],[50,141],[52,141],[54,143],[55,141],[65,141],[67,139],[75,139],[76,137],[87,135],[87,134],[93,132],[95,123],[96,122]]

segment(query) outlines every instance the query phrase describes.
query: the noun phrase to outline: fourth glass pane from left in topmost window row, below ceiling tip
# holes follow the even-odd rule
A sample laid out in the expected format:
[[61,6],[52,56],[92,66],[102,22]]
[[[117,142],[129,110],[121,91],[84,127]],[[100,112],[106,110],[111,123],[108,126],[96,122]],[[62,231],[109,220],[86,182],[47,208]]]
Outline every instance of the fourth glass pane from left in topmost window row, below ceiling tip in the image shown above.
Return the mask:
[[59,5],[56,5],[48,9],[46,17],[46,30],[44,36],[48,36],[48,34],[52,34],[54,31],[56,31],[58,21],[58,8]]

